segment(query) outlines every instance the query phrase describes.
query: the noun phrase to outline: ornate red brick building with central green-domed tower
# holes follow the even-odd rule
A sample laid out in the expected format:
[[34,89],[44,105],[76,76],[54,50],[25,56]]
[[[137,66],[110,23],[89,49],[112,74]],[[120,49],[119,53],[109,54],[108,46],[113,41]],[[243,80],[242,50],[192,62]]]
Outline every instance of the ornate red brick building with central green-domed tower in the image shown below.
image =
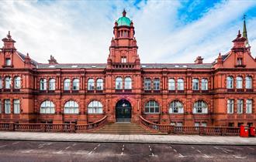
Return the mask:
[[0,51],[0,122],[137,122],[176,126],[256,125],[256,60],[244,22],[234,46],[213,63],[144,64],[133,22],[115,22],[107,63],[49,64],[18,52],[10,33]]

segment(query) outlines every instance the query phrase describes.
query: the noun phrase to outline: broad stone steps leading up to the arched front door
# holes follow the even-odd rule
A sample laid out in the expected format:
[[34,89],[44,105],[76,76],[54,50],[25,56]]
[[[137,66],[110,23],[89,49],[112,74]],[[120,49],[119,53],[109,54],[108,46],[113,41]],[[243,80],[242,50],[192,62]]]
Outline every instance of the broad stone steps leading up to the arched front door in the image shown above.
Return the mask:
[[137,123],[130,122],[116,122],[108,123],[106,126],[100,128],[99,130],[94,130],[92,133],[101,134],[167,134],[161,133],[153,130],[145,129],[140,127]]

